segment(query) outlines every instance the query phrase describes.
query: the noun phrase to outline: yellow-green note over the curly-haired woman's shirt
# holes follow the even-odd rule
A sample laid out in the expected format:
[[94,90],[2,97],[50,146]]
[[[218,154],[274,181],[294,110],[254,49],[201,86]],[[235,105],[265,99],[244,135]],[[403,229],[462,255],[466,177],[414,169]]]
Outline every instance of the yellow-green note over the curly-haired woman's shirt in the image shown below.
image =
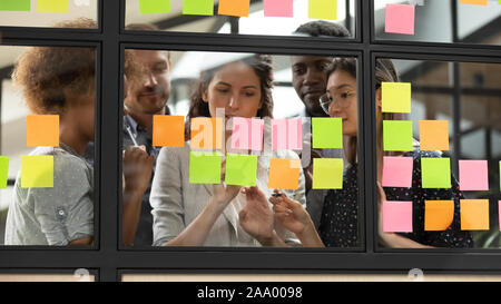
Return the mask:
[[21,188],[52,188],[53,156],[21,156]]

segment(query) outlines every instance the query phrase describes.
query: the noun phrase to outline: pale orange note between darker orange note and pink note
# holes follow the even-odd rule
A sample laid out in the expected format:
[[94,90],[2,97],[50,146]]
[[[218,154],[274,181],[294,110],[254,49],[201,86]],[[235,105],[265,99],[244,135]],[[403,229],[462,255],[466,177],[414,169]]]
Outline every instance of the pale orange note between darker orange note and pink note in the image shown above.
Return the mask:
[[223,119],[217,117],[191,118],[191,149],[222,149]]

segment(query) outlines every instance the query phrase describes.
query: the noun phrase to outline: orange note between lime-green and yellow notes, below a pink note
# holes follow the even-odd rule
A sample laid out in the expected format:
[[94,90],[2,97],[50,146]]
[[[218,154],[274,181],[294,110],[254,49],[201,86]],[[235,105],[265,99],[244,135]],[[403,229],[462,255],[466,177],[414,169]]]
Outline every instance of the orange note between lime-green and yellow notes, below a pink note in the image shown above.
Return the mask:
[[297,189],[299,171],[301,159],[272,158],[269,160],[268,188]]

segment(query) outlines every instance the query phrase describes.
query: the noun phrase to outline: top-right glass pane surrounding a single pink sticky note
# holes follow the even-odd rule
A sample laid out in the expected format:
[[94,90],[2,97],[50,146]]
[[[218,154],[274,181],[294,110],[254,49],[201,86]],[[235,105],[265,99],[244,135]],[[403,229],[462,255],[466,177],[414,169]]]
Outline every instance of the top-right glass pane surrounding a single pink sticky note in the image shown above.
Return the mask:
[[[415,6],[413,35],[394,33],[391,30],[386,32],[385,29],[386,23],[390,24],[392,20],[396,21],[391,16],[386,16],[386,6],[409,6],[409,1],[373,1],[376,39],[501,45],[499,27],[501,7],[497,1],[488,1],[488,6],[465,4],[460,1],[424,1],[423,6]],[[452,7],[453,4],[455,9]],[[455,20],[455,23],[453,20]]]

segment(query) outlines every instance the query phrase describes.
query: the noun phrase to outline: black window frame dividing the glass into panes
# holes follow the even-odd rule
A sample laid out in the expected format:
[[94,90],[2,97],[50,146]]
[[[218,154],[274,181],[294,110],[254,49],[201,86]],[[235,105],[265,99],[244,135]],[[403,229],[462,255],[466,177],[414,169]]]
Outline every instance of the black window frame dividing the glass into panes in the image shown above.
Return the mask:
[[[125,31],[125,1],[98,0],[96,30],[0,27],[2,45],[92,46],[97,50],[96,107],[96,246],[90,249],[0,247],[0,273],[47,273],[47,269],[94,269],[97,281],[119,281],[124,273],[407,273],[421,268],[441,274],[501,274],[501,249],[383,249],[376,237],[375,88],[379,57],[421,60],[501,62],[500,46],[375,40],[374,3],[356,0],[354,39],[267,37],[189,32]],[[455,0],[451,0],[454,2]],[[455,7],[455,6],[453,6]],[[454,36],[456,37],[456,36]],[[358,177],[363,220],[361,251],[215,249],[122,247],[121,202],[121,77],[126,48],[243,51],[273,55],[355,56],[362,77],[360,91]],[[117,56],[119,55],[119,56]],[[367,104],[369,102],[369,104]],[[53,272],[53,271],[52,271]]]

